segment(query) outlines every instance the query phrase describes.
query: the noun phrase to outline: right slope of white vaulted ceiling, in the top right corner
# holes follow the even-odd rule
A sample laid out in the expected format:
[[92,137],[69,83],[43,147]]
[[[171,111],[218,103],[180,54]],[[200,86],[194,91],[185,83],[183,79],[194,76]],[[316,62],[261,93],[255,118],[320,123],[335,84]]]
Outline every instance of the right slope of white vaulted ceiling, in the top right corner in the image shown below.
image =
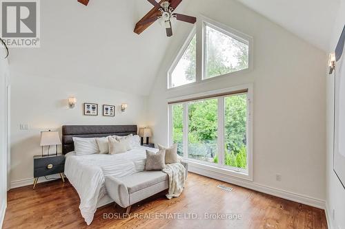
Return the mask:
[[302,39],[328,51],[341,0],[237,0]]

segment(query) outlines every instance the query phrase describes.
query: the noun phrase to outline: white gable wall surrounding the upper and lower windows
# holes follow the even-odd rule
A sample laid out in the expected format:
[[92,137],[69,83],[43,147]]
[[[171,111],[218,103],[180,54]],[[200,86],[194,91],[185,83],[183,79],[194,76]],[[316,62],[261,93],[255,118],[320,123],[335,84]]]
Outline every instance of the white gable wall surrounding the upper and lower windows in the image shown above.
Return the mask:
[[[167,98],[253,83],[253,183],[275,193],[283,190],[307,197],[322,206],[326,198],[326,53],[237,1],[190,0],[185,12],[200,12],[253,36],[253,70],[167,90],[166,72],[191,30],[181,26],[148,100],[153,141],[168,143]],[[282,175],[282,182],[275,180],[276,173]]]

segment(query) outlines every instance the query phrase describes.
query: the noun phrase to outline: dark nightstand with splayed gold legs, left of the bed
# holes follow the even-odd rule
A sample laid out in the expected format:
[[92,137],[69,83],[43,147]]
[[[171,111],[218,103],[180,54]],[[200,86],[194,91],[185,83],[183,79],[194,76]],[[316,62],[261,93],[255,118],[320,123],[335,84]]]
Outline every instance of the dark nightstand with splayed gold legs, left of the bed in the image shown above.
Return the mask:
[[47,175],[60,174],[62,182],[65,182],[63,179],[63,171],[65,168],[65,155],[51,155],[42,157],[34,156],[34,187],[37,184],[39,177],[44,177]]

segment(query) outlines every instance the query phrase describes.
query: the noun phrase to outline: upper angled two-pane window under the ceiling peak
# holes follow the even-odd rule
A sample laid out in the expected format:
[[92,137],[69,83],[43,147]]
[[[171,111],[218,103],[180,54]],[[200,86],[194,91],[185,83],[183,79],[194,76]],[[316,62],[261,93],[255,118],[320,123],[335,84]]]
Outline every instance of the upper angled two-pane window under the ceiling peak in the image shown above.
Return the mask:
[[168,89],[249,69],[251,44],[250,36],[201,17],[168,70]]

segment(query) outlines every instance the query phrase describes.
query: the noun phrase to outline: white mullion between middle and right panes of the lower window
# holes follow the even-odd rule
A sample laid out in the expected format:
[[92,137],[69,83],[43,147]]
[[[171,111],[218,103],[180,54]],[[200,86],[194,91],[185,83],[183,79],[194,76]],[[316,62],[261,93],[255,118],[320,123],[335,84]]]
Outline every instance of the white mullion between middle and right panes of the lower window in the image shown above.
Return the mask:
[[224,165],[224,97],[218,98],[218,164]]

